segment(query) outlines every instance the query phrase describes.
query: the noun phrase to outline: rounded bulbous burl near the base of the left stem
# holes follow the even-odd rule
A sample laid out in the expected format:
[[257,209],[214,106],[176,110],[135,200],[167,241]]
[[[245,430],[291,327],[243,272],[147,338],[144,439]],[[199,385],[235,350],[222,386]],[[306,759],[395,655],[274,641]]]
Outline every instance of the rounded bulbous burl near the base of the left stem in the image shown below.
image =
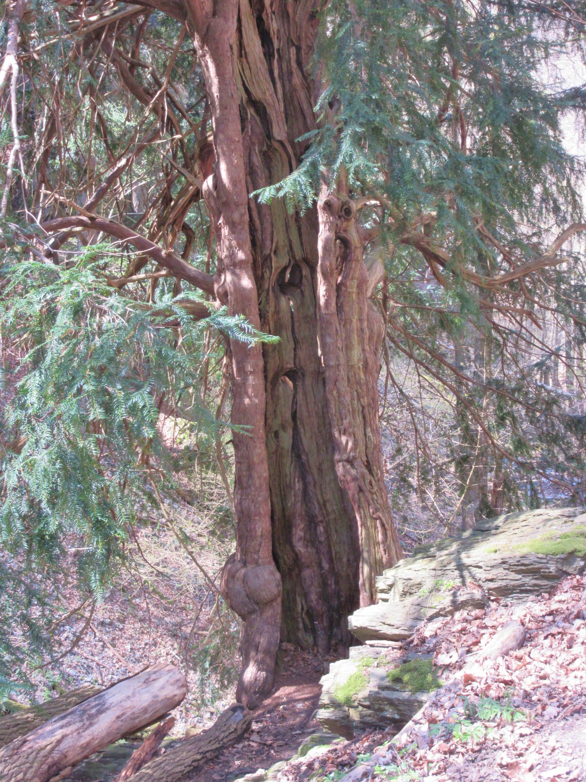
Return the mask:
[[249,565],[231,554],[223,566],[220,590],[224,600],[241,619],[280,597],[280,573],[275,565]]

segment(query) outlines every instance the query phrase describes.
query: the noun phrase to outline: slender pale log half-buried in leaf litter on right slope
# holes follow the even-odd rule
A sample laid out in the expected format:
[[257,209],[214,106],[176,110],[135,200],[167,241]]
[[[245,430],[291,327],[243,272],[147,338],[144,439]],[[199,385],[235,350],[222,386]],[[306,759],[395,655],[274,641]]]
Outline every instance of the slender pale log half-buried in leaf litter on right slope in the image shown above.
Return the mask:
[[410,735],[411,732],[416,728],[417,723],[422,721],[427,709],[433,708],[434,704],[438,703],[446,692],[452,690],[455,686],[459,686],[459,679],[465,673],[470,673],[474,669],[481,669],[483,660],[496,660],[498,657],[504,657],[508,655],[509,652],[519,649],[525,643],[525,637],[525,628],[520,622],[507,622],[501,630],[498,630],[498,633],[495,633],[495,636],[488,642],[484,649],[481,649],[476,655],[470,655],[470,659],[466,662],[466,665],[456,671],[456,673],[453,673],[443,687],[436,690],[430,700],[423,704],[420,710],[409,719],[406,726],[404,726],[402,730],[399,730],[398,734],[393,737],[391,746],[386,753],[384,750],[376,752],[368,762],[360,763],[358,766],[350,769],[344,777],[341,777],[339,782],[358,782],[358,780],[368,779],[373,773],[374,766],[389,762],[390,759],[395,759],[397,756],[397,748],[409,743],[409,740],[412,738]]

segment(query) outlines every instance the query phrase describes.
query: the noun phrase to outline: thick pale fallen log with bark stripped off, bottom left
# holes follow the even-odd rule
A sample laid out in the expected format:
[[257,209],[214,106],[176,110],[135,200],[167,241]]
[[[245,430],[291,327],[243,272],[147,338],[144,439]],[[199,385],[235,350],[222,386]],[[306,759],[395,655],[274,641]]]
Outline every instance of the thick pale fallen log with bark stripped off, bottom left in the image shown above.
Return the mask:
[[0,780],[48,782],[107,744],[152,724],[186,693],[180,670],[153,665],[6,744],[0,749]]

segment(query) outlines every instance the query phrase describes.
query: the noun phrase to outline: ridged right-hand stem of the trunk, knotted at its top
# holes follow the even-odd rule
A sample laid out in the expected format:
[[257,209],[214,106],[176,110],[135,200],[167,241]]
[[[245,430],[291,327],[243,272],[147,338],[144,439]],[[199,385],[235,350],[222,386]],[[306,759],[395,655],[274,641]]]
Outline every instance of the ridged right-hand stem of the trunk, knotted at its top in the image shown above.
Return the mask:
[[393,526],[381,455],[377,380],[381,315],[368,301],[364,241],[351,199],[324,193],[317,317],[336,472],[348,492],[360,538],[360,605],[376,601],[375,577],[402,556]]

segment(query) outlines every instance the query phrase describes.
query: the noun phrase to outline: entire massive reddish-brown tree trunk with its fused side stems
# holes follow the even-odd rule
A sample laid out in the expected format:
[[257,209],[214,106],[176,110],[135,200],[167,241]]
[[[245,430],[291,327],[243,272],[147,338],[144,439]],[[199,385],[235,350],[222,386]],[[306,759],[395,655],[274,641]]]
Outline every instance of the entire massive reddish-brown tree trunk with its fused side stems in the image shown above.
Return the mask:
[[[329,281],[340,307],[330,345],[318,296],[316,209],[301,215],[288,213],[283,199],[248,199],[298,167],[307,145],[297,139],[316,127],[308,67],[323,5],[188,5],[216,150],[203,192],[230,311],[280,337],[265,346],[263,361],[258,348],[231,345],[232,419],[250,435],[234,437],[237,552],[223,594],[245,619],[238,698],[247,705],[270,688],[279,612],[282,640],[322,652],[348,644],[348,614],[376,599],[374,577],[401,556],[381,465],[382,330],[367,302],[365,238],[356,225],[349,276],[338,292],[335,274]],[[341,417],[331,404],[338,387]]]

